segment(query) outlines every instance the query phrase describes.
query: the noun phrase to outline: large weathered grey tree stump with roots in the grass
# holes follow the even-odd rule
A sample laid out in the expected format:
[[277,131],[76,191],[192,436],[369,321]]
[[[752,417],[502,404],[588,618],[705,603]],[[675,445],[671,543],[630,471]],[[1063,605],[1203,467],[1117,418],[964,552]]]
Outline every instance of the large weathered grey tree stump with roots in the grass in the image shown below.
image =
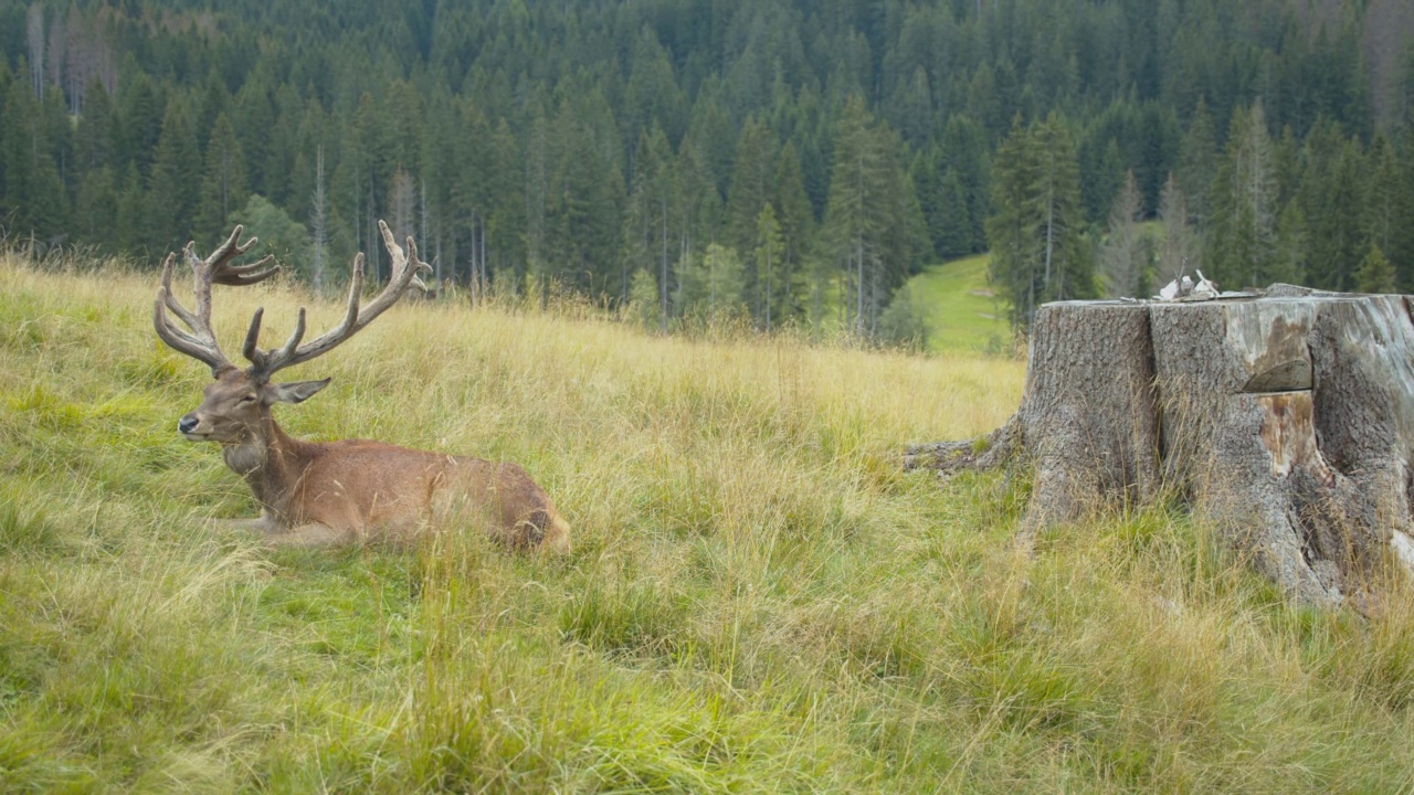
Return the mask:
[[1285,591],[1339,604],[1386,560],[1414,571],[1411,300],[1278,284],[1046,304],[1017,414],[905,465],[1034,465],[1022,538],[1178,495]]

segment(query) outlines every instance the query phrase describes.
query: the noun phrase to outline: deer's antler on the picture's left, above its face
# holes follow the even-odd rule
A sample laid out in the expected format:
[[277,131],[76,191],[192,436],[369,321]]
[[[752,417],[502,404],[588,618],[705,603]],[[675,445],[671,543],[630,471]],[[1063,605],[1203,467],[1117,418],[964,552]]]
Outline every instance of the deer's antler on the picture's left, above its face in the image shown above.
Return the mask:
[[[197,297],[195,311],[187,310],[187,307],[181,306],[173,297],[175,253],[168,253],[163,262],[161,287],[157,289],[157,301],[153,304],[153,328],[157,330],[157,335],[163,342],[199,362],[205,362],[211,366],[212,375],[219,375],[221,371],[233,368],[235,365],[221,352],[221,347],[216,344],[216,334],[211,330],[211,286],[229,284],[240,287],[255,284],[264,282],[280,270],[279,265],[270,265],[273,257],[269,256],[252,265],[230,265],[230,260],[246,253],[256,245],[257,238],[250,238],[245,243],[239,242],[243,231],[243,226],[236,225],[230,236],[226,238],[226,242],[218,246],[206,259],[197,256],[192,243],[187,243],[187,248],[182,249],[187,255],[187,262],[191,265],[192,293]],[[167,317],[167,310],[171,310],[173,314],[181,318],[191,332],[182,331],[174,324]]]

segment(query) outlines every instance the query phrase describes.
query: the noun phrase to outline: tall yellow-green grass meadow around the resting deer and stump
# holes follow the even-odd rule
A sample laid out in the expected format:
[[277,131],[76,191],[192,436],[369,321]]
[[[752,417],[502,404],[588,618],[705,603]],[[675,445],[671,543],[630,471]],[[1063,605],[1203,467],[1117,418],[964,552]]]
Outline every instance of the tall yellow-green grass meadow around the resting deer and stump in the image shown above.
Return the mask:
[[[1024,472],[899,471],[1017,361],[395,307],[286,430],[518,461],[574,552],[271,552],[208,528],[255,504],[175,433],[209,375],[154,291],[0,259],[0,792],[1414,787],[1407,594],[1294,607],[1178,509],[1027,557]],[[216,287],[226,352],[301,301]]]

